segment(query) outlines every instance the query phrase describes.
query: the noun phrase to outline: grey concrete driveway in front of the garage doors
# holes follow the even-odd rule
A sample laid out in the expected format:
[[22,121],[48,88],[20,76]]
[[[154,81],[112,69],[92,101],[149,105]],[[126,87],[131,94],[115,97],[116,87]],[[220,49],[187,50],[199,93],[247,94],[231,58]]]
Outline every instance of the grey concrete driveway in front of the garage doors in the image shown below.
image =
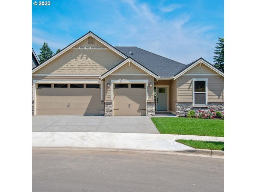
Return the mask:
[[159,133],[146,116],[32,116],[32,132]]

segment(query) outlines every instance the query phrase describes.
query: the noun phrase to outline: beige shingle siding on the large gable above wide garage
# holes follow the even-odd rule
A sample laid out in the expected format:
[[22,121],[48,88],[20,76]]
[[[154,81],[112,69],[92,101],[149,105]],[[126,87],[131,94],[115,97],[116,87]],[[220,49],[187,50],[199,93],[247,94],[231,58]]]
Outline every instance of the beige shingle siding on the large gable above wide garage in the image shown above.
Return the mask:
[[104,74],[123,58],[112,50],[69,50],[35,74]]

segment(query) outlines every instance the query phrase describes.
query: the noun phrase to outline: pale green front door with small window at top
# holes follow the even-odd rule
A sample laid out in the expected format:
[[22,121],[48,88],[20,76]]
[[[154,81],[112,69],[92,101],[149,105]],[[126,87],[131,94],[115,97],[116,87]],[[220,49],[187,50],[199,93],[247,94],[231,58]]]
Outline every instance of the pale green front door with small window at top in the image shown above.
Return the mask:
[[168,111],[167,110],[167,87],[156,87],[155,101],[156,111]]

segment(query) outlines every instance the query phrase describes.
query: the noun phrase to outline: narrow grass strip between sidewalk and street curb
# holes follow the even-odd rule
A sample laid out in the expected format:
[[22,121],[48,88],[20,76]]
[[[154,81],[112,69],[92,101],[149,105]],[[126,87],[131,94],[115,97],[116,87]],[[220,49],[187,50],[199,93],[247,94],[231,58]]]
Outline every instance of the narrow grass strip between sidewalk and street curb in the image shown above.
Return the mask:
[[224,142],[214,142],[214,141],[193,141],[193,140],[184,140],[178,139],[177,142],[180,142],[184,145],[188,145],[193,148],[202,148],[202,149],[212,149],[212,150],[222,150],[224,151]]

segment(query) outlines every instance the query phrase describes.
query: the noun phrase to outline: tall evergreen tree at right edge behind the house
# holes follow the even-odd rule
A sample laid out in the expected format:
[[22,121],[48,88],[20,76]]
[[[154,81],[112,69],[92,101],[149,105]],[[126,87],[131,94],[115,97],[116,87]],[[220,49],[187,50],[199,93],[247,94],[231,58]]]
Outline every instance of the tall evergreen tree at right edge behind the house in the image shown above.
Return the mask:
[[219,42],[217,42],[216,49],[214,49],[214,66],[224,72],[224,37],[218,37],[218,39]]

